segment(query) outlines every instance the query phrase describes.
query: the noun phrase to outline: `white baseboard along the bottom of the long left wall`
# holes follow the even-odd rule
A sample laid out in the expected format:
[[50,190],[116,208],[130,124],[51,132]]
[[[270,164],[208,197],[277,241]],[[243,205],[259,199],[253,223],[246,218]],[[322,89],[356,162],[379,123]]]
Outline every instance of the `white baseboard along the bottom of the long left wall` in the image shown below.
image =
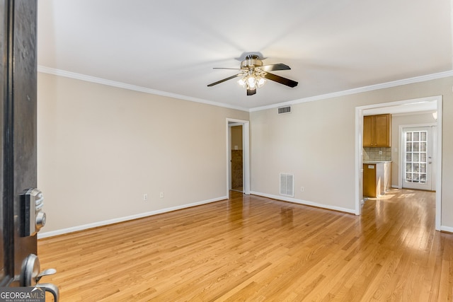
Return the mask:
[[50,231],[50,232],[44,232],[44,233],[38,233],[38,239],[40,238],[47,238],[47,237],[53,237],[53,236],[58,236],[58,235],[63,235],[67,233],[73,233],[77,231],[83,231],[88,228],[97,228],[98,226],[107,226],[108,224],[113,224],[113,223],[118,223],[118,222],[123,222],[123,221],[129,221],[129,220],[134,220],[134,219],[139,219],[147,216],[153,216],[156,214],[162,214],[166,213],[169,211],[176,211],[179,209],[185,209],[185,208],[190,208],[190,207],[196,207],[200,206],[202,204],[210,204],[211,202],[219,202],[220,200],[228,199],[227,196],[222,196],[214,199],[208,199],[204,200],[202,202],[194,202],[192,204],[183,204],[182,206],[178,207],[170,207],[170,208],[165,208],[165,209],[159,209],[156,211],[149,211],[146,213],[140,213],[140,214],[135,214],[135,215],[130,215],[130,216],[124,216],[124,217],[118,217],[115,219],[109,219],[105,221],[98,221],[98,222],[93,222],[93,223],[88,223],[88,224],[83,224],[81,226],[73,226],[71,228],[62,228],[57,231]]

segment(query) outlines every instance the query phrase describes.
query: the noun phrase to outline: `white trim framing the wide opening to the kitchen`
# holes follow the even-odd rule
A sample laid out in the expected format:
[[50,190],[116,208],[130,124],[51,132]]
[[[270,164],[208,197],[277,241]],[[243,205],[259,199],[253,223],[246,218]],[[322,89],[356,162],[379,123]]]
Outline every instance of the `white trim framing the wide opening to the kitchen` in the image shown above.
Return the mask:
[[362,133],[363,133],[363,111],[374,108],[385,108],[395,105],[418,103],[426,100],[437,101],[437,141],[436,141],[436,214],[435,229],[442,230],[442,95],[435,95],[429,98],[418,98],[413,100],[400,100],[389,103],[359,106],[355,108],[355,214],[362,212]]

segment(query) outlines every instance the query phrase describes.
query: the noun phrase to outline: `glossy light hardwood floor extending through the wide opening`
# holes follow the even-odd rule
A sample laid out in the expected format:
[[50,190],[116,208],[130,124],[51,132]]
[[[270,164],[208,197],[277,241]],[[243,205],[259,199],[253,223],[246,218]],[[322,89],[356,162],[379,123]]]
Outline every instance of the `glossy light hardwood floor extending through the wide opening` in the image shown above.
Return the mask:
[[[435,193],[362,216],[231,192],[222,202],[38,240],[61,301],[452,301]],[[47,301],[52,301],[50,296]]]

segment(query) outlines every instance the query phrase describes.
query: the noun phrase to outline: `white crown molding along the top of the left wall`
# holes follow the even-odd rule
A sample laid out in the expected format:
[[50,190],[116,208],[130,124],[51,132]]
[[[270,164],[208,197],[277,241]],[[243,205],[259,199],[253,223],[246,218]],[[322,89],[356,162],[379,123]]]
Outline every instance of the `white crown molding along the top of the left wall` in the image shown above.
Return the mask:
[[241,111],[248,112],[248,108],[242,108],[242,107],[228,105],[228,104],[224,104],[224,103],[212,102],[211,100],[203,100],[201,98],[192,98],[187,95],[168,93],[166,91],[158,91],[156,89],[130,85],[130,84],[121,83],[121,82],[117,82],[117,81],[110,81],[110,80],[106,80],[106,79],[96,78],[95,76],[86,76],[84,74],[76,74],[75,72],[64,71],[61,69],[53,69],[53,68],[45,67],[45,66],[41,66],[41,65],[38,65],[38,72],[41,72],[42,74],[52,74],[54,76],[64,76],[65,78],[76,79],[76,80],[80,80],[80,81],[87,81],[87,82],[91,82],[91,83],[98,83],[98,84],[102,84],[102,85],[106,85],[106,86],[113,86],[113,87],[117,87],[117,88],[128,89],[131,91],[138,91],[138,92],[142,92],[142,93],[161,95],[161,96],[166,96],[168,98],[176,98],[179,100],[188,100],[190,102],[203,103],[203,104],[207,104],[207,105],[213,105],[213,106],[217,106],[217,107],[223,107],[223,108],[229,108],[229,109],[235,109],[235,110],[241,110]]

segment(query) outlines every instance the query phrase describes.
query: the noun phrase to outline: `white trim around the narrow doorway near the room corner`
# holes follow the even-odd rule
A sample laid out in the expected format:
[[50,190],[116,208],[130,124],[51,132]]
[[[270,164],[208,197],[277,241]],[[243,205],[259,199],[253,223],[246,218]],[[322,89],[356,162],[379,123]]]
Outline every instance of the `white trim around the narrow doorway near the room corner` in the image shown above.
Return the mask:
[[243,194],[250,194],[250,122],[226,118],[226,196],[229,196],[231,183],[231,136],[229,127],[231,123],[242,125],[243,143]]

